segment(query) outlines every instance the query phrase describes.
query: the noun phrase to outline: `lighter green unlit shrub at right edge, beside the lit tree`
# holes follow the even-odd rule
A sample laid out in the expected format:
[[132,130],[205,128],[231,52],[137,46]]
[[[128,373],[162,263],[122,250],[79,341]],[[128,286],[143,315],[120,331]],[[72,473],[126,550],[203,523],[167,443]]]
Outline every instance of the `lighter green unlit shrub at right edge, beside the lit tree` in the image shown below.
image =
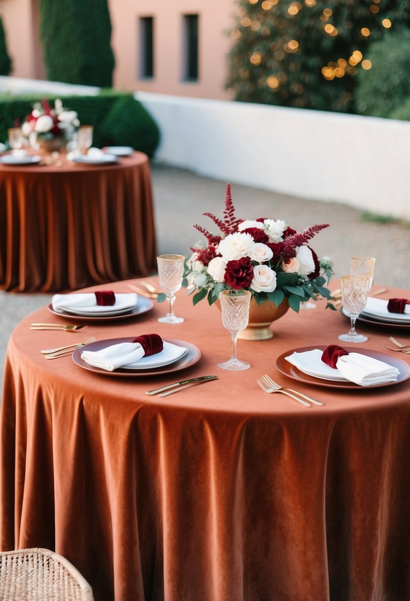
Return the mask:
[[410,31],[373,43],[367,58],[372,69],[358,73],[356,111],[390,117],[410,97]]

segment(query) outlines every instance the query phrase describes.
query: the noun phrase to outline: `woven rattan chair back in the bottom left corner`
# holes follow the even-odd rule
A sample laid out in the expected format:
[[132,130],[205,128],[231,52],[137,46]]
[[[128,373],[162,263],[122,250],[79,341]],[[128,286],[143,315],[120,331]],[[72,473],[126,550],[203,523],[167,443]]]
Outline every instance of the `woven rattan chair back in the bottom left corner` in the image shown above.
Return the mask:
[[49,549],[0,553],[0,601],[94,601],[78,570]]

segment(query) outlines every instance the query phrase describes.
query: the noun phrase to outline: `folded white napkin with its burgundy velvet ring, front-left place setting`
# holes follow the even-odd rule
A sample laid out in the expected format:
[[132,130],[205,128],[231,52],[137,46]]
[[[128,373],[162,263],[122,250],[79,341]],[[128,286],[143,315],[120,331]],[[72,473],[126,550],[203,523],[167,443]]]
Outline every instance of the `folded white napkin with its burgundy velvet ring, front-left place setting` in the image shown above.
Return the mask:
[[[185,353],[185,348],[164,342],[158,334],[144,334],[129,343],[112,344],[96,351],[84,350],[81,358],[94,367],[114,371],[118,367],[139,367],[139,364],[147,369],[159,367],[176,361]],[[154,361],[149,359],[151,355],[156,355]]]

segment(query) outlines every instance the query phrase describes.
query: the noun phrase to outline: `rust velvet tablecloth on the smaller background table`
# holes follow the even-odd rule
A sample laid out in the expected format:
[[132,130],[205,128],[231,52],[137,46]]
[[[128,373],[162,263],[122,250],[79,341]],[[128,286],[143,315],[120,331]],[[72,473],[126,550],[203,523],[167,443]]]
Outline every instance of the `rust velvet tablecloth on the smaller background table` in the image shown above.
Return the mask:
[[0,165],[0,288],[75,290],[156,269],[148,157]]

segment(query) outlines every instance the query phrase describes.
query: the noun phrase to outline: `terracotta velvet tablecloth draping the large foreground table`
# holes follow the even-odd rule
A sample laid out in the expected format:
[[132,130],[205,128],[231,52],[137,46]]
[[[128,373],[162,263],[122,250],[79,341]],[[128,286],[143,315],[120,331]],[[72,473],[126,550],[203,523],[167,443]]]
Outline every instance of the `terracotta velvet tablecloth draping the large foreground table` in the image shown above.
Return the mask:
[[[288,311],[272,340],[240,340],[252,364],[240,372],[216,367],[231,342],[215,307],[180,291],[174,309],[184,323],[158,323],[167,307],[155,304],[77,334],[30,331],[70,323],[46,308],[17,326],[1,406],[0,548],[63,554],[96,601],[410,599],[410,380],[346,391],[279,373],[281,353],[337,344],[349,329],[323,301]],[[388,352],[390,335],[410,343],[409,330],[358,328],[369,335],[358,349]],[[73,337],[151,332],[197,344],[201,360],[120,378],[40,354]],[[264,373],[324,405],[265,394]],[[219,379],[145,395],[204,374]]]

